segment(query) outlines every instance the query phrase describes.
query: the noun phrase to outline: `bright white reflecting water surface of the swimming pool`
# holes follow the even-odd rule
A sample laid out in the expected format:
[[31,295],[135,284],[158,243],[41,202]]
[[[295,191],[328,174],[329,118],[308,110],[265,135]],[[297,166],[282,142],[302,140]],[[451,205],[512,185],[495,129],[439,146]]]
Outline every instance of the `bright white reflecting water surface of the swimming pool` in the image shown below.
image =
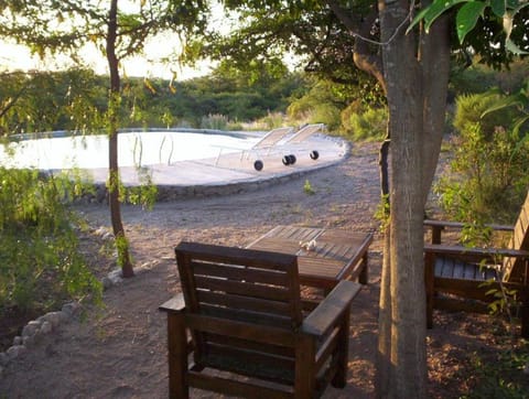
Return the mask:
[[[108,166],[108,137],[65,136],[21,140],[0,147],[0,165],[40,170],[97,169]],[[180,161],[208,159],[224,153],[244,151],[258,140],[239,133],[217,130],[150,129],[123,131],[118,134],[120,166],[171,165]],[[13,152],[11,155],[10,152]]]

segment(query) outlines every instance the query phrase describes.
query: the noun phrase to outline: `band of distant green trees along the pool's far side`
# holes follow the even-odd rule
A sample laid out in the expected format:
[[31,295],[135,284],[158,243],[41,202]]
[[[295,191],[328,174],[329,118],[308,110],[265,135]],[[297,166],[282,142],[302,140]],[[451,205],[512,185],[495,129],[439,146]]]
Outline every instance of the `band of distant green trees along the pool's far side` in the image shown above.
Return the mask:
[[[45,130],[94,133],[104,129],[108,109],[104,77],[72,69],[13,73],[3,75],[2,83],[0,134]],[[234,129],[240,122],[283,115],[289,98],[304,91],[306,84],[298,74],[251,80],[227,72],[172,85],[163,79],[127,78],[116,117],[120,128],[220,127],[217,122],[225,119],[222,128]]]

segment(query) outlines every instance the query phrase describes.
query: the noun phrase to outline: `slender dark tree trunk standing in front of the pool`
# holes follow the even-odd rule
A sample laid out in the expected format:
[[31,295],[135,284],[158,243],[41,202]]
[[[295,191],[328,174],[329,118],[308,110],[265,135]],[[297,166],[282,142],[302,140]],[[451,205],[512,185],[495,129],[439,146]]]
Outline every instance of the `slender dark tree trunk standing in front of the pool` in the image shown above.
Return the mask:
[[119,77],[119,61],[116,56],[117,40],[117,14],[118,0],[111,0],[108,14],[108,35],[107,35],[107,61],[110,72],[110,94],[108,107],[108,195],[110,204],[110,218],[112,222],[114,236],[116,238],[116,249],[118,251],[118,265],[121,267],[123,277],[134,276],[132,262],[130,260],[129,244],[125,236],[123,223],[121,222],[121,209],[119,199],[119,169],[118,169],[118,118],[120,108],[121,83]]

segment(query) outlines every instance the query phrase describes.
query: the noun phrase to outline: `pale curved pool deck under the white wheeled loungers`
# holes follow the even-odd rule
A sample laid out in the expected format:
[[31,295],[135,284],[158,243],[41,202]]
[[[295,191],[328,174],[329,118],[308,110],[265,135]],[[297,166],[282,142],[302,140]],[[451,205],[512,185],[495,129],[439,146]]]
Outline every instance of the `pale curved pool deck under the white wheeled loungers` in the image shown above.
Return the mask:
[[[316,150],[317,160],[310,158]],[[284,144],[274,147],[270,153],[259,152],[220,153],[220,157],[180,161],[171,164],[145,166],[152,182],[159,188],[158,201],[171,201],[182,196],[208,196],[235,194],[253,191],[270,184],[289,181],[311,171],[327,168],[342,162],[348,157],[350,144],[342,139],[315,134],[303,144]],[[294,154],[296,162],[292,165],[282,163],[283,155]],[[256,171],[253,162],[259,159],[263,169]],[[94,183],[104,186],[108,179],[108,169],[85,170]],[[138,171],[133,166],[120,168],[122,183],[126,186],[140,184]],[[99,193],[99,197],[102,193]]]

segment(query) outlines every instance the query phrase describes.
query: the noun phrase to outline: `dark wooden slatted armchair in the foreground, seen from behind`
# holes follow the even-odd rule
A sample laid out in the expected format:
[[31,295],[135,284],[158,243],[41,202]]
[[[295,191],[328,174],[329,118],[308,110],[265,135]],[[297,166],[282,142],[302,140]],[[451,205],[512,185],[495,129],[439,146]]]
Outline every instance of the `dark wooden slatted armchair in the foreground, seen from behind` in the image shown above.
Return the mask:
[[345,386],[359,284],[342,281],[304,317],[295,256],[185,241],[175,252],[183,292],[160,306],[171,398],[187,398],[190,387],[313,398],[328,381]]

